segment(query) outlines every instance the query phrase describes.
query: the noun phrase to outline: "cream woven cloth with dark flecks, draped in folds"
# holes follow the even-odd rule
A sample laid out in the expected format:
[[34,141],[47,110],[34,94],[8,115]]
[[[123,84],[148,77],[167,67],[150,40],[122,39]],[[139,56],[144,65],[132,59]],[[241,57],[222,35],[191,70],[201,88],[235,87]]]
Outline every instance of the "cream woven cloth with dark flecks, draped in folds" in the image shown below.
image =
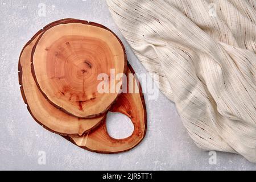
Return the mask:
[[107,3],[196,145],[256,162],[256,1]]

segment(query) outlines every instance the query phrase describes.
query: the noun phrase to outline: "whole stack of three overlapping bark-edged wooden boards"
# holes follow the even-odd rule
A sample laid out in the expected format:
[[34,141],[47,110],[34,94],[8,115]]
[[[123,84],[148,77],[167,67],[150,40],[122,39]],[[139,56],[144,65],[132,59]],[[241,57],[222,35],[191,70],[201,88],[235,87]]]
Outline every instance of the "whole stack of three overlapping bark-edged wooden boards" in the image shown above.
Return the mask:
[[[22,49],[19,84],[27,109],[40,125],[86,150],[112,154],[137,146],[146,134],[146,107],[139,81],[118,37],[98,23],[62,19],[39,30]],[[108,90],[99,92],[104,73]],[[128,76],[129,75],[129,76]],[[123,84],[123,78],[127,78]],[[130,91],[130,83],[133,90]],[[127,115],[133,134],[110,137],[108,111]]]

